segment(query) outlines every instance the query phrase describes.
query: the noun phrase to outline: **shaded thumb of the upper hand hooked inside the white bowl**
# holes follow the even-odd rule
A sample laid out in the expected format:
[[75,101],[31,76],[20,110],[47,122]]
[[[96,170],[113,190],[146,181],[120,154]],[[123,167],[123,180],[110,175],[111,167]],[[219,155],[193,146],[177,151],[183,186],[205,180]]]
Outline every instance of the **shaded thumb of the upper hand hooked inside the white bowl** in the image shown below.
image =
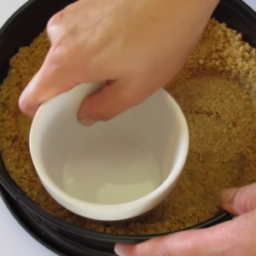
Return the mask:
[[113,119],[119,113],[143,102],[159,87],[155,86],[155,83],[150,85],[145,80],[132,79],[109,82],[102,90],[84,100],[79,109],[78,118],[83,125]]

